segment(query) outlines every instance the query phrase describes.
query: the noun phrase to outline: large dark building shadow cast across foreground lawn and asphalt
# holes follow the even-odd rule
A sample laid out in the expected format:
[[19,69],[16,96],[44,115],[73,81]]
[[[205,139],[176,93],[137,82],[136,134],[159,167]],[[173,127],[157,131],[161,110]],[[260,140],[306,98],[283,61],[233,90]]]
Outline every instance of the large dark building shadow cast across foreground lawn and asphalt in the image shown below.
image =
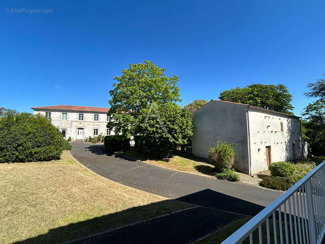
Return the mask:
[[[263,206],[210,189],[180,197],[176,200],[210,208],[199,207],[194,210],[164,217],[164,221],[134,225],[116,231],[114,234],[105,235],[100,238],[95,237],[87,243],[166,243],[167,241],[172,243],[188,243],[190,240],[202,237],[241,218],[242,215],[240,214],[255,215],[264,209]],[[141,220],[144,213],[151,212],[151,216],[155,216],[155,212],[162,209],[166,209],[165,212],[168,212],[167,209],[175,209],[178,204],[174,200],[168,199],[134,207],[51,229],[46,234],[16,243],[60,243],[69,241],[110,230],[121,225],[134,223]],[[175,207],[171,205],[175,205]],[[123,220],[123,223],[121,223],[121,220]]]

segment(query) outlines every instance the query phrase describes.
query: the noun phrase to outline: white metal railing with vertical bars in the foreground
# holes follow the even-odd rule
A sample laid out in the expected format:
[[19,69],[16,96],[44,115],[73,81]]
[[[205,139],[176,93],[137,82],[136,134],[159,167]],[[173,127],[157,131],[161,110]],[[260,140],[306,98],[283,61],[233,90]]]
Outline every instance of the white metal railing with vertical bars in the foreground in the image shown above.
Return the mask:
[[325,161],[221,244],[318,244],[324,232]]

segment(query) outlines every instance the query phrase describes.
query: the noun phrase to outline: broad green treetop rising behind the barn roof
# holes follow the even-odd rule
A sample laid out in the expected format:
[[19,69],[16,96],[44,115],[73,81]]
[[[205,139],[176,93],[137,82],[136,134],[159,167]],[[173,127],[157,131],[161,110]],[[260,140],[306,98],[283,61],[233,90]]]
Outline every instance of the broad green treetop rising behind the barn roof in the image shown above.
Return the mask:
[[282,85],[252,84],[244,88],[233,88],[220,93],[220,100],[253,105],[273,111],[292,114],[292,96]]

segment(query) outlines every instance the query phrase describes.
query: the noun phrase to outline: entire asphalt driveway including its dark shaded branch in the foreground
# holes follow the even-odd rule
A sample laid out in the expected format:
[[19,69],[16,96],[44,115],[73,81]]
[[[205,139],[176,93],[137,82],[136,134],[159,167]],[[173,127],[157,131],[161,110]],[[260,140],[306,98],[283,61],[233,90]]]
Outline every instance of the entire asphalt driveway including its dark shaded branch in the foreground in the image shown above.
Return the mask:
[[79,241],[79,244],[191,243],[244,217],[244,214],[257,214],[281,195],[281,192],[255,185],[226,182],[128,160],[108,153],[103,144],[72,145],[71,154],[80,163],[107,179],[163,197],[200,205],[146,223],[86,238]]

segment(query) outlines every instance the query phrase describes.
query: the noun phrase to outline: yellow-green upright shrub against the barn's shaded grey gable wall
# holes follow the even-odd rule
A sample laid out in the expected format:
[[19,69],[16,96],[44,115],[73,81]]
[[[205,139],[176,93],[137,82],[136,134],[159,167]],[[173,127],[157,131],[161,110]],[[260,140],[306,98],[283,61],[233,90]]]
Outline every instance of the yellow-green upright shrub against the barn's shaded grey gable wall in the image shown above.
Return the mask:
[[208,153],[208,162],[212,164],[216,171],[223,168],[231,169],[234,164],[234,143],[222,142],[220,138],[211,147]]

